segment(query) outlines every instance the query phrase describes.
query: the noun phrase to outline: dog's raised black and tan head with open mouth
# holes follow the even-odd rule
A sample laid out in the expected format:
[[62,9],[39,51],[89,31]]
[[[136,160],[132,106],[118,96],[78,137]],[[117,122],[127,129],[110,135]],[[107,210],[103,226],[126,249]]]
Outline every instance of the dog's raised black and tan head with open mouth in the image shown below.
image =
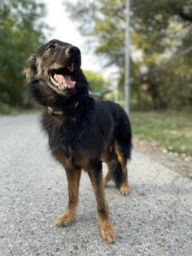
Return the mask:
[[26,65],[28,84],[34,81],[50,86],[60,95],[75,90],[76,77],[81,67],[81,51],[74,45],[51,40],[31,54]]

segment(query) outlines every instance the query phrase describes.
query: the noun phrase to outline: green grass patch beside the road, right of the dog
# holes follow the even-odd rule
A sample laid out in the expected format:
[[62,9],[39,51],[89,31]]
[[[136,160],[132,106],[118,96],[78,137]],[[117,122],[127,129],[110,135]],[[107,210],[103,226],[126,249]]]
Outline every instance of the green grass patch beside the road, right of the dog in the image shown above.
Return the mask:
[[132,134],[140,140],[157,141],[169,151],[192,156],[192,115],[180,112],[132,112]]

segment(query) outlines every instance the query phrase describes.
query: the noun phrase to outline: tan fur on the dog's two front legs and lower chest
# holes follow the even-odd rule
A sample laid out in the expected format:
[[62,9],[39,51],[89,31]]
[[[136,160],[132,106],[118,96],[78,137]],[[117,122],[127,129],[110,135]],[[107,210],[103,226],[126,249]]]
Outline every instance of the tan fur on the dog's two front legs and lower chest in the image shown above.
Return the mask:
[[[96,180],[94,171],[90,168],[88,164],[90,159],[83,157],[83,154],[77,156],[74,162],[68,161],[65,156],[63,156],[60,151],[56,148],[52,150],[53,156],[63,164],[68,180],[68,207],[67,210],[56,220],[56,225],[68,226],[76,217],[76,206],[78,202],[78,193],[79,193],[79,180],[81,177],[81,168],[84,168],[90,180],[92,182],[93,191],[95,193],[95,199],[97,202],[97,213],[99,217],[99,227],[100,234],[102,238],[108,243],[114,243],[116,241],[116,232],[113,228],[109,217],[109,207],[104,195],[104,184],[102,182],[102,172],[99,180]],[[75,166],[78,166],[76,168]]]

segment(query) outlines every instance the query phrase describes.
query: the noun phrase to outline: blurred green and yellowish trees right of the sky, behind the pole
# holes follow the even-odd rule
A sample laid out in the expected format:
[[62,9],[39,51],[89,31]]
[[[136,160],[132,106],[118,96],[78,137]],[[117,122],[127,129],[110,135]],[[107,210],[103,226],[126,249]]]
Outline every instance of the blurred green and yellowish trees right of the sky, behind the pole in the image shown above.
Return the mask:
[[[79,30],[91,36],[97,54],[119,67],[124,84],[125,0],[66,3]],[[191,46],[192,0],[131,0],[131,81]],[[74,21],[74,19],[73,19]],[[95,43],[96,42],[96,43]],[[192,107],[192,52],[131,88],[132,107]],[[122,89],[123,92],[123,89]],[[122,93],[123,95],[123,93]]]

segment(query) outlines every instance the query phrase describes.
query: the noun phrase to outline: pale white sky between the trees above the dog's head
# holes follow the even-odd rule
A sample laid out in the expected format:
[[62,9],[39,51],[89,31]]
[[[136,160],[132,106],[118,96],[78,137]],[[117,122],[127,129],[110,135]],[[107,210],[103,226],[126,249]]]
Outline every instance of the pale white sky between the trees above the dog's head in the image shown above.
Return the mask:
[[[58,39],[63,42],[79,47],[82,55],[83,70],[92,70],[99,72],[104,77],[114,76],[115,68],[104,68],[100,65],[100,58],[93,54],[93,51],[86,50],[86,38],[81,36],[76,29],[76,22],[69,19],[67,10],[62,4],[62,0],[43,0],[47,8],[47,17],[45,22],[52,29],[47,35],[48,41],[51,39]],[[76,2],[76,0],[71,0]]]

